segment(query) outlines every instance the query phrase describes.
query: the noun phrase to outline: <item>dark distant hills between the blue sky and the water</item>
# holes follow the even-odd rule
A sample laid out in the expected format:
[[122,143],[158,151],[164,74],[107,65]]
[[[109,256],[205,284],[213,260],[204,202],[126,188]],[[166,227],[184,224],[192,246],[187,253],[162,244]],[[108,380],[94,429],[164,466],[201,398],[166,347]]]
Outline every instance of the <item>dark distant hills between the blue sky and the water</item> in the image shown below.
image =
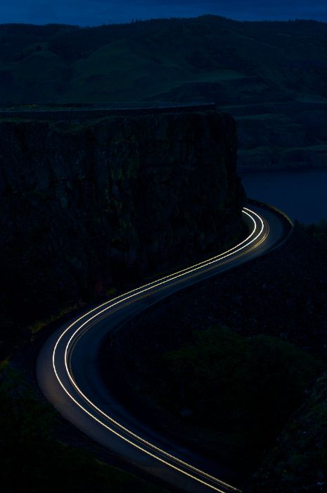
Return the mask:
[[0,25],[0,104],[214,101],[243,168],[327,163],[327,24]]

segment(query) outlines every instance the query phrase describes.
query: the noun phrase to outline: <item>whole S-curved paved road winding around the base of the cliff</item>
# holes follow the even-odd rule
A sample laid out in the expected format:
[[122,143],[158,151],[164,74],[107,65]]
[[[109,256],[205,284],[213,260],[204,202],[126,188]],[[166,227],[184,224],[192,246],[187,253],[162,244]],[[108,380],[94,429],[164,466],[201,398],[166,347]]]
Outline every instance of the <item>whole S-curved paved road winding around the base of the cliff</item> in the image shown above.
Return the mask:
[[39,387],[65,418],[134,466],[184,492],[239,490],[226,482],[229,471],[161,437],[124,409],[103,382],[98,351],[108,332],[136,313],[179,289],[263,254],[286,236],[286,220],[278,213],[250,206],[243,209],[243,216],[250,230],[243,242],[97,306],[54,333],[37,360]]

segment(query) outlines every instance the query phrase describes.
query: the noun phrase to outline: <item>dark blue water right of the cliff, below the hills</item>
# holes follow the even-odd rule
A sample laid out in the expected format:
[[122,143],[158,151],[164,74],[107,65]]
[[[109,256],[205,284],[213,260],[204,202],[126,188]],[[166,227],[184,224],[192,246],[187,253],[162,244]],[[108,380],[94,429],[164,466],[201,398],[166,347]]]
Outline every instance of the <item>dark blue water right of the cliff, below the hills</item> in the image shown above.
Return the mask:
[[286,212],[301,223],[327,220],[327,170],[239,173],[247,195]]

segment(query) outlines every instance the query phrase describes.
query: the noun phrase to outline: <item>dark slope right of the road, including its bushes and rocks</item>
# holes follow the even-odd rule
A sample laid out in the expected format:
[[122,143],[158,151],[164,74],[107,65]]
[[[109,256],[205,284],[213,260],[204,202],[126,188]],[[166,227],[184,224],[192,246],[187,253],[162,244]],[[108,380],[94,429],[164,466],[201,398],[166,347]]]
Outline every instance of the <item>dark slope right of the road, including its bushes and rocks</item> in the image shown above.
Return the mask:
[[326,225],[296,225],[273,253],[149,308],[103,352],[127,405],[233,463],[251,492],[326,485],[326,240]]

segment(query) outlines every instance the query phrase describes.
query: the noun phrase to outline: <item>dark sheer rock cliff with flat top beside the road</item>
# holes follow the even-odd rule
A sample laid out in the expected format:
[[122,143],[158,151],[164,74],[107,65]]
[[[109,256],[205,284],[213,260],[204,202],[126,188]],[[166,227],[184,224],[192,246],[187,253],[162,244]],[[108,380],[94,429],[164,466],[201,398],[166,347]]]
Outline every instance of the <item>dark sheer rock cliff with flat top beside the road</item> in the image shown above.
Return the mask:
[[236,127],[217,111],[0,120],[0,162],[7,311],[49,313],[241,232]]

